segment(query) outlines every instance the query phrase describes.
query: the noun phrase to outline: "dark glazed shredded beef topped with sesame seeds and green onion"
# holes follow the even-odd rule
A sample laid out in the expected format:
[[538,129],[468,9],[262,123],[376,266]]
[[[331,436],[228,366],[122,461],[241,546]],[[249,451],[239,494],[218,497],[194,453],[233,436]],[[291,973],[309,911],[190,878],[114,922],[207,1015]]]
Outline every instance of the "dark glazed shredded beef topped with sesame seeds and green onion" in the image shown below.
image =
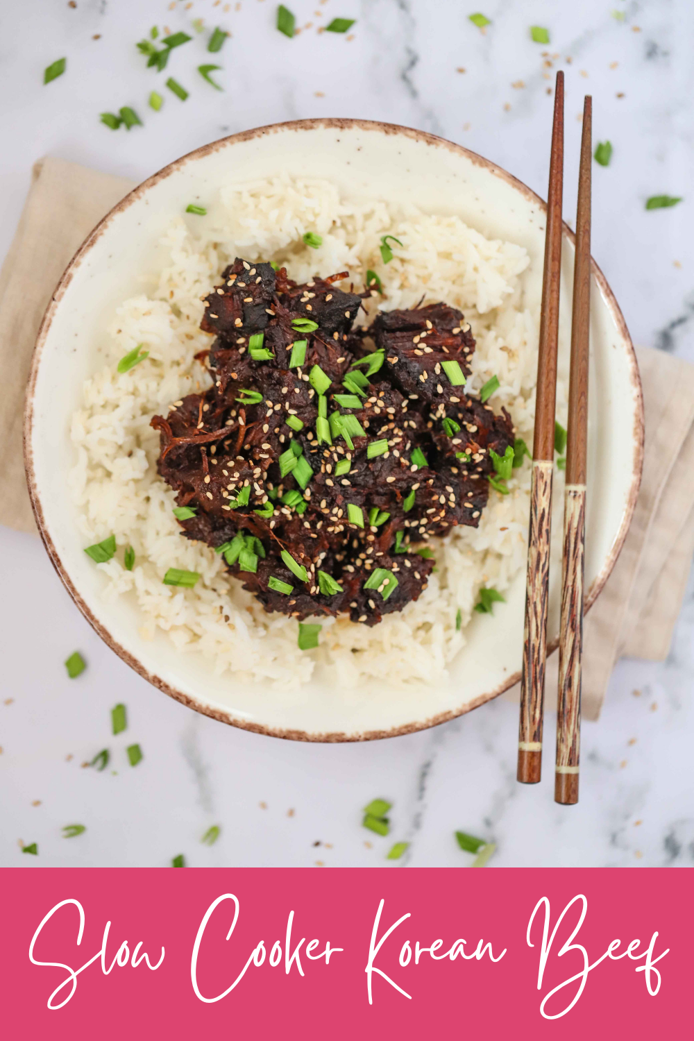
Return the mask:
[[[156,415],[182,534],[267,611],[374,626],[427,585],[415,550],[477,527],[506,410],[464,392],[470,327],[446,304],[355,325],[362,296],[237,258],[205,300],[212,386]],[[364,294],[365,296],[366,294]]]

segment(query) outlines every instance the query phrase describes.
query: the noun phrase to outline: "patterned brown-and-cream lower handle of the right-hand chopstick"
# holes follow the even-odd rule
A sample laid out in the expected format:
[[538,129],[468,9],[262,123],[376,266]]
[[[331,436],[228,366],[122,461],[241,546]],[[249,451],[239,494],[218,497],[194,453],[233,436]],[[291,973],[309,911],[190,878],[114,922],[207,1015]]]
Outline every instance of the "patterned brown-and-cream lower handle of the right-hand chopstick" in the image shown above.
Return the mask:
[[555,772],[555,799],[564,805],[579,802],[585,530],[586,485],[567,484],[564,506]]

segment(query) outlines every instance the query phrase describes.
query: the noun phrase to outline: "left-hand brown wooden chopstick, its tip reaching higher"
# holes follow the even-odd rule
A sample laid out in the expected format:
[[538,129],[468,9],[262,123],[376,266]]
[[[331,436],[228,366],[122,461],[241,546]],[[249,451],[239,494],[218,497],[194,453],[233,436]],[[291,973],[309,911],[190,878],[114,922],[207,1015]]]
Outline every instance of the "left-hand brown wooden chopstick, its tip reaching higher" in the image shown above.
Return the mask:
[[555,457],[557,338],[562,266],[562,193],[564,178],[564,73],[557,73],[551,130],[547,222],[537,364],[531,518],[525,581],[525,630],[518,728],[518,781],[537,784],[542,769],[542,707],[549,593],[549,526]]

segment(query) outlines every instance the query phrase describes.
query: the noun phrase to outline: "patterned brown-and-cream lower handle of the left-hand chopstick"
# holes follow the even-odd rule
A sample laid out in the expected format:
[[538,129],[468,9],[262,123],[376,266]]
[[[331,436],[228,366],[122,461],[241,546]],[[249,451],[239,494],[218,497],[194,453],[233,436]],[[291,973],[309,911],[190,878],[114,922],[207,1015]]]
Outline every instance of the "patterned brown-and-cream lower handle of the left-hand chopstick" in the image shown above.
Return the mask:
[[518,730],[517,777],[524,784],[537,784],[542,767],[542,703],[549,596],[551,474],[551,462],[543,459],[536,459],[533,462]]

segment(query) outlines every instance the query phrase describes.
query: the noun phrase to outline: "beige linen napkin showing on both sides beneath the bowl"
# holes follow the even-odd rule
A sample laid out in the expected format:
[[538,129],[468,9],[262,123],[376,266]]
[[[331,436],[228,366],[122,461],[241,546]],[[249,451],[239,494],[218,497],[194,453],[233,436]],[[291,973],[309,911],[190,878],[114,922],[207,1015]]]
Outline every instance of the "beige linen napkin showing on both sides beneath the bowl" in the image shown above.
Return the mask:
[[[72,255],[133,186],[61,159],[33,168],[0,272],[0,523],[19,531],[35,531],[22,464],[22,411],[38,326]],[[643,482],[619,560],[586,618],[589,719],[599,714],[619,657],[667,656],[694,554],[694,365],[647,348],[637,354],[645,402]],[[557,685],[552,659],[548,700]]]

